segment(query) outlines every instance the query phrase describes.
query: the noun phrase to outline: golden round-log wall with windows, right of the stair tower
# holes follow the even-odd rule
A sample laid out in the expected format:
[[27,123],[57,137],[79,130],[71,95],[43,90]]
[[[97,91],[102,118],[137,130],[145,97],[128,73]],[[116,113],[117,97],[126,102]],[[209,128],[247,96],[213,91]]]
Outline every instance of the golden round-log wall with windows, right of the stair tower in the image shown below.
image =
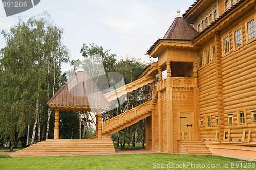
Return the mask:
[[[220,14],[225,10],[225,1],[219,1]],[[230,18],[232,24],[215,32],[198,52],[200,136],[216,142],[255,142],[256,38],[248,37],[248,23],[256,19],[255,3],[239,18]],[[239,30],[241,45],[236,44]],[[224,49],[226,38],[229,46]]]

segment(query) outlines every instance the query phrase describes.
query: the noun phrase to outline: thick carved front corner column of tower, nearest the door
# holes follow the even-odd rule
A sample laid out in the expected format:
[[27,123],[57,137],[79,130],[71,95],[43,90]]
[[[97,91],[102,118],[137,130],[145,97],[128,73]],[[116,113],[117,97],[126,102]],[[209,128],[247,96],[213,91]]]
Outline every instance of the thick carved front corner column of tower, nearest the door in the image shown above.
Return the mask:
[[166,106],[167,106],[167,152],[174,153],[174,137],[173,137],[173,100],[172,100],[172,85],[171,85],[171,69],[170,61],[166,61],[167,71],[167,88],[166,88]]

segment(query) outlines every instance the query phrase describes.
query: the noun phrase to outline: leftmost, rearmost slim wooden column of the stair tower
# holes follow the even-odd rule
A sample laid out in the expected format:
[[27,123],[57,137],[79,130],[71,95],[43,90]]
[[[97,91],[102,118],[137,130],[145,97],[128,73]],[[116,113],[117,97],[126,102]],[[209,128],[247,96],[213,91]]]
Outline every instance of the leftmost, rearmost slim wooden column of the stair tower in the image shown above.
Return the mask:
[[[154,92],[154,89],[155,89],[155,82],[151,83],[151,88],[152,88],[151,96],[152,96],[152,99],[153,99],[154,98],[153,92]],[[155,104],[156,103],[152,104],[152,115],[151,115],[151,144],[152,144],[151,148],[152,148],[152,151],[156,151]]]

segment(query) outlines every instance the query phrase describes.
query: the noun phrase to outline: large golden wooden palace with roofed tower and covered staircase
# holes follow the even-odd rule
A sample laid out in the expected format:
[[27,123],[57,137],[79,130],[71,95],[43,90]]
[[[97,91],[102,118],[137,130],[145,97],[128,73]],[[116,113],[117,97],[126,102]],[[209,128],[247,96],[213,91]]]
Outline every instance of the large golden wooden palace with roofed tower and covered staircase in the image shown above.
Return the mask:
[[[103,123],[98,114],[96,135],[84,141],[105,141],[106,151],[113,153],[111,134],[145,118],[147,150],[256,159],[255,10],[256,0],[198,0],[183,16],[177,11],[164,37],[146,53],[158,61],[136,81],[104,96],[99,92],[104,105],[94,108],[102,111],[108,102],[142,87],[151,98]],[[52,141],[60,140],[58,110],[88,107],[85,98],[80,103],[63,98],[67,93],[62,87],[48,102],[56,110]],[[56,103],[60,100],[62,105]]]

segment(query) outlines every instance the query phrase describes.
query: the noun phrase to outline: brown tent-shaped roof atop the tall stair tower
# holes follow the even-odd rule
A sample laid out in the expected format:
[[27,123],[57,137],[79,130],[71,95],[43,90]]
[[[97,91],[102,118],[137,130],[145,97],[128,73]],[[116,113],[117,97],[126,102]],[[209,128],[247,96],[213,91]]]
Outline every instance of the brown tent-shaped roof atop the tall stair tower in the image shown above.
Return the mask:
[[198,32],[183,18],[176,17],[163,39],[193,40]]

